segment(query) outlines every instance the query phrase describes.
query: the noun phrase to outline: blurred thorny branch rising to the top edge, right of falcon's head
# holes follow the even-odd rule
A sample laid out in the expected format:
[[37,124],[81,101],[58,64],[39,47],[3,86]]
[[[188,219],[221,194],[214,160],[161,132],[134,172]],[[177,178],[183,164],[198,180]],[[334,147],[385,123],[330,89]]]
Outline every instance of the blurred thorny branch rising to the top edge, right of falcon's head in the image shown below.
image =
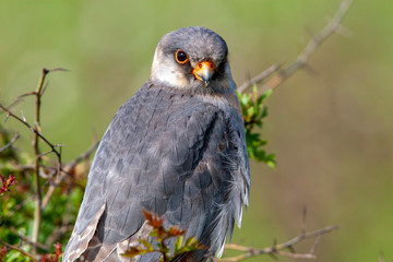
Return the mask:
[[327,25],[319,34],[317,34],[310,39],[310,41],[307,44],[306,48],[297,57],[295,62],[293,62],[285,69],[281,69],[281,67],[277,64],[271,66],[261,74],[257,75],[255,78],[242,84],[238,88],[238,91],[246,92],[249,87],[253,86],[254,84],[259,84],[262,83],[263,81],[266,81],[269,76],[271,76],[273,73],[276,73],[259,88],[259,94],[263,94],[269,90],[275,90],[285,80],[289,79],[294,73],[296,73],[299,69],[305,68],[307,66],[309,58],[315,52],[318,47],[324,40],[326,40],[334,33],[345,33],[344,26],[342,26],[341,22],[344,20],[345,15],[347,14],[352,5],[352,2],[353,0],[344,0],[341,3],[334,17],[327,23]]

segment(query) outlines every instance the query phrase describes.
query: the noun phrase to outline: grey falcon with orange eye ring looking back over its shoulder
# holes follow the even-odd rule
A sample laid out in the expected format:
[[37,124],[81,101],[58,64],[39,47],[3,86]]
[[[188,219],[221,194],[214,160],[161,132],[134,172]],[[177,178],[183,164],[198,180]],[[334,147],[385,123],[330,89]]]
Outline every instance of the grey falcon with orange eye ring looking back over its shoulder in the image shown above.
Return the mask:
[[[143,209],[186,229],[207,249],[177,261],[221,255],[249,202],[245,126],[225,40],[204,27],[166,34],[147,82],[115,115],[94,157],[63,261],[124,258],[150,239]],[[172,246],[169,239],[169,246]]]

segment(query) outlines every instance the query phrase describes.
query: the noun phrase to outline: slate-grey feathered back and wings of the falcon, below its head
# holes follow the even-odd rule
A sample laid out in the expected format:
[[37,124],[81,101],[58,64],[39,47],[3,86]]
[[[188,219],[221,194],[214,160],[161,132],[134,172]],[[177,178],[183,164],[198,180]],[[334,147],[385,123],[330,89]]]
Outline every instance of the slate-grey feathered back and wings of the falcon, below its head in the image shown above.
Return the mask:
[[[242,121],[235,110],[229,112],[236,116],[201,97],[183,97],[147,82],[118,110],[102,140],[64,261],[78,258],[73,247],[86,230],[98,242],[92,253],[112,252],[107,254],[112,261],[120,243],[124,250],[130,239],[141,237],[142,207],[219,250],[246,201],[238,191],[249,187],[240,175],[249,176]],[[234,186],[239,181],[242,186]]]

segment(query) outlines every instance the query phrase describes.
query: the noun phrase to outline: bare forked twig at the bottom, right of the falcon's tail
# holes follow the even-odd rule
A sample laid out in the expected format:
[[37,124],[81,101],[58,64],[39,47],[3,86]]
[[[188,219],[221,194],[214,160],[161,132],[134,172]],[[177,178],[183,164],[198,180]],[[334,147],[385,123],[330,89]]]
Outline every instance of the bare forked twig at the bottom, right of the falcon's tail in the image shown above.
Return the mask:
[[[245,247],[245,246],[240,246],[240,245],[236,245],[236,243],[227,243],[225,246],[226,249],[243,251],[246,253],[239,254],[236,257],[231,257],[231,258],[224,258],[224,259],[221,259],[217,261],[219,261],[219,262],[236,262],[236,261],[241,261],[241,260],[252,258],[255,255],[260,255],[260,254],[277,254],[277,255],[288,257],[288,258],[294,258],[294,259],[314,259],[315,255],[312,252],[293,253],[293,252],[286,252],[283,250],[293,248],[296,243],[302,241],[303,239],[309,239],[309,238],[318,239],[320,236],[331,233],[333,230],[336,230],[337,228],[338,228],[337,226],[329,226],[329,227],[324,227],[324,228],[321,228],[321,229],[318,229],[314,231],[305,233],[305,234],[301,234],[286,242],[275,243],[272,247],[264,248],[264,249]],[[314,250],[314,248],[312,248],[311,251],[312,250]]]

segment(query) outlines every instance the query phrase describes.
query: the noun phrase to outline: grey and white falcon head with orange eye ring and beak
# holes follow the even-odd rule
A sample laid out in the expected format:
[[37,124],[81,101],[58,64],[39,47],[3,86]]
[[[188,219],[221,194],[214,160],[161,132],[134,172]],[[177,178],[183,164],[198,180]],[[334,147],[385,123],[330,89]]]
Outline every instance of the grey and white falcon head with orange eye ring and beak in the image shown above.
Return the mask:
[[225,40],[211,29],[183,27],[157,45],[151,80],[193,93],[235,90]]

